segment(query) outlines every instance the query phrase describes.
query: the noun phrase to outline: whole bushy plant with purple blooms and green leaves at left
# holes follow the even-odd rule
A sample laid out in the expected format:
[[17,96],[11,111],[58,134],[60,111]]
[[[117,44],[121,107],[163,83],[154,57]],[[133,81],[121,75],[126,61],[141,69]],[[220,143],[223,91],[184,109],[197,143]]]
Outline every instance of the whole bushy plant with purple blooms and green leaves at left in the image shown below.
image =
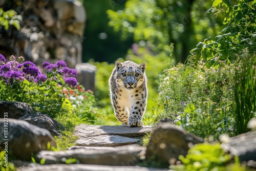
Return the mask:
[[76,79],[69,76],[77,76],[77,71],[68,68],[65,61],[43,63],[47,76],[33,62],[24,62],[23,57],[16,61],[11,56],[8,62],[5,61],[0,54],[0,100],[27,102],[36,112],[51,117],[71,112],[73,107],[62,90],[76,86]]

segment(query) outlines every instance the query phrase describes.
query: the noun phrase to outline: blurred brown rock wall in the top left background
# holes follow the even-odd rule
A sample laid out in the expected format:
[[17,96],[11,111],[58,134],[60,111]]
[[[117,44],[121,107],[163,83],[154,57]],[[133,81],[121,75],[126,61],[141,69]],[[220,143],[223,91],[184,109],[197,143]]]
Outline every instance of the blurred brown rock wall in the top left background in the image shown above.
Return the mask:
[[[83,5],[75,0],[2,0],[4,11],[22,15],[20,30],[0,26],[0,53],[23,56],[40,65],[65,60],[68,67],[81,63],[86,21]],[[4,3],[3,3],[4,2]]]

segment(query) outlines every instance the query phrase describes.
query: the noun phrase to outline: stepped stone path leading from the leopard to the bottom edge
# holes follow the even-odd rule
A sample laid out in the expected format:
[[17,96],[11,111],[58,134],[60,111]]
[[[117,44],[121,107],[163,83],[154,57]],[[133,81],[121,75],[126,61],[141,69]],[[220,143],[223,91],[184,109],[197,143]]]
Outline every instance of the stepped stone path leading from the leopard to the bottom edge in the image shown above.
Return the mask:
[[[19,170],[158,170],[135,166],[145,156],[141,138],[152,127],[98,126],[80,124],[75,127],[76,146],[67,151],[41,151],[35,156],[44,166],[19,167]],[[65,165],[63,160],[75,158],[79,164]],[[49,165],[48,165],[49,164]]]

